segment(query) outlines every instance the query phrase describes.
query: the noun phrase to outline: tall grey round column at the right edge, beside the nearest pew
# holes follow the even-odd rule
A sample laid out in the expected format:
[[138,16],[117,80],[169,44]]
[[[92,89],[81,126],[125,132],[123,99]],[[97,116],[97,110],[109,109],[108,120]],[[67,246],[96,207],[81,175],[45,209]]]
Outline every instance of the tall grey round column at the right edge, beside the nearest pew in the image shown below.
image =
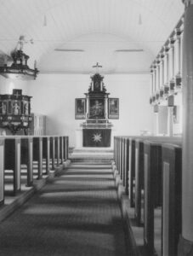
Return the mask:
[[182,236],[179,256],[193,255],[193,0],[184,0]]

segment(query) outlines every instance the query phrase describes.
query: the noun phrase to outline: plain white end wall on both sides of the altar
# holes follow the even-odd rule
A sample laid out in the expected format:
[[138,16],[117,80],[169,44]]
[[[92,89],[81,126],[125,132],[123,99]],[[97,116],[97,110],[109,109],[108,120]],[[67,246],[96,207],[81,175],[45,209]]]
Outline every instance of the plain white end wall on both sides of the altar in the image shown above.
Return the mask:
[[[118,135],[139,135],[152,132],[152,109],[149,104],[148,74],[105,75],[105,87],[110,97],[120,101],[120,119],[111,120]],[[70,146],[76,145],[76,130],[83,120],[75,119],[75,98],[88,92],[88,75],[40,74],[28,84],[31,112],[47,115],[48,135],[70,136]]]

